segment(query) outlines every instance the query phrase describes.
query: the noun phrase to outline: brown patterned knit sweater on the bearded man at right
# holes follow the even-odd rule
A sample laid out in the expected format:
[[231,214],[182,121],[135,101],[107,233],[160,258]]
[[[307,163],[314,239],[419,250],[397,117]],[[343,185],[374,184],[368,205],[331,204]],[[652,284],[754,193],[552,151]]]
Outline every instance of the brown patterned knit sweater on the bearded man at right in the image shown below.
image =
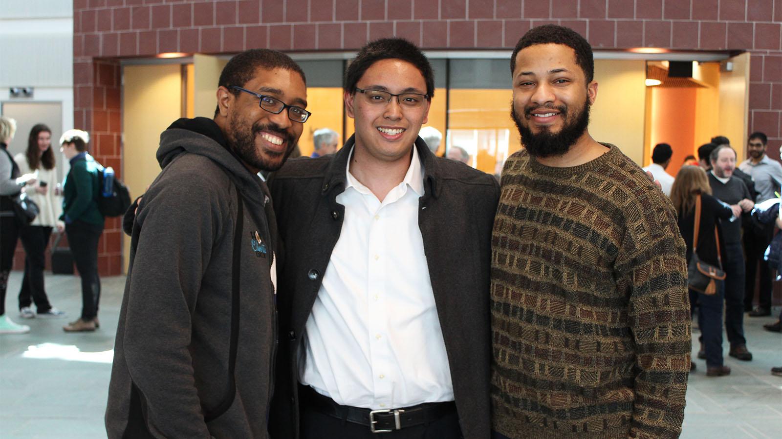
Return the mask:
[[668,198],[614,145],[502,173],[492,236],[493,429],[679,437],[690,370],[685,247]]

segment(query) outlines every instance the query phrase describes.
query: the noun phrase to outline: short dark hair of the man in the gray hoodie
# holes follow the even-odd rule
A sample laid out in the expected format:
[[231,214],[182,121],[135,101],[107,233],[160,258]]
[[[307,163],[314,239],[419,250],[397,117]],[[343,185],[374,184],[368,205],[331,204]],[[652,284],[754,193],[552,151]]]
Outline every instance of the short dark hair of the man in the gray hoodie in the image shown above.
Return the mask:
[[[301,80],[304,81],[304,85],[307,86],[307,77],[304,76],[304,71],[296,64],[296,61],[293,61],[290,56],[282,52],[269,48],[251,48],[234,55],[220,73],[220,80],[217,81],[217,86],[226,87],[234,95],[239,95],[241,92],[231,88],[231,86],[244,87],[247,81],[253,79],[255,71],[259,67],[267,70],[283,69],[299,73]],[[214,116],[217,116],[218,112],[220,112],[219,105],[214,109]]]

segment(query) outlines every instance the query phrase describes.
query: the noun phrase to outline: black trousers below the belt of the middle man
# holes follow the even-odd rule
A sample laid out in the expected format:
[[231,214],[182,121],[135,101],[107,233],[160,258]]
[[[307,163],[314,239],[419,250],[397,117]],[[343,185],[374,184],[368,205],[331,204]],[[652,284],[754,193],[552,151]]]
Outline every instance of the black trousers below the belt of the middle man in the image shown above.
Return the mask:
[[456,412],[432,421],[428,425],[407,427],[390,433],[372,433],[369,427],[324,415],[301,407],[301,439],[461,439],[459,416]]

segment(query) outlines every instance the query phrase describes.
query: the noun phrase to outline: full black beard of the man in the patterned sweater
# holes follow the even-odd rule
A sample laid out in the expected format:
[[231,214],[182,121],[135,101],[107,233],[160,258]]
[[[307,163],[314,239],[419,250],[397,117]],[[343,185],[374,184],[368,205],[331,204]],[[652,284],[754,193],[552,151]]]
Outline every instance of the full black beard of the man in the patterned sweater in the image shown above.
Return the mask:
[[[587,131],[589,126],[589,97],[584,102],[583,110],[576,115],[576,119],[569,121],[568,108],[565,105],[558,107],[546,107],[558,110],[561,117],[565,120],[565,124],[562,126],[558,133],[552,133],[549,127],[543,127],[540,133],[533,134],[529,127],[522,124],[521,117],[518,116],[516,109],[511,102],[511,119],[516,123],[518,128],[518,134],[522,136],[522,145],[529,152],[529,155],[539,158],[554,157],[558,155],[564,155],[570,150],[572,145],[576,144],[576,141]],[[533,110],[540,109],[537,106],[529,106],[524,110],[524,117],[529,117]]]

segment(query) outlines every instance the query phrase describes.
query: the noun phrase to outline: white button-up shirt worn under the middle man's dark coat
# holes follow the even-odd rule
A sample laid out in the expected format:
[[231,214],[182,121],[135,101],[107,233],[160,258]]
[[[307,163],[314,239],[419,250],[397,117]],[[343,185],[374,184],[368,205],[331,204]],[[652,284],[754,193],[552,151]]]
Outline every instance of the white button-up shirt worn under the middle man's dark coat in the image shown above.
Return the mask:
[[454,400],[424,243],[423,170],[413,148],[380,202],[346,170],[342,232],[307,319],[300,381],[340,405],[395,409]]

